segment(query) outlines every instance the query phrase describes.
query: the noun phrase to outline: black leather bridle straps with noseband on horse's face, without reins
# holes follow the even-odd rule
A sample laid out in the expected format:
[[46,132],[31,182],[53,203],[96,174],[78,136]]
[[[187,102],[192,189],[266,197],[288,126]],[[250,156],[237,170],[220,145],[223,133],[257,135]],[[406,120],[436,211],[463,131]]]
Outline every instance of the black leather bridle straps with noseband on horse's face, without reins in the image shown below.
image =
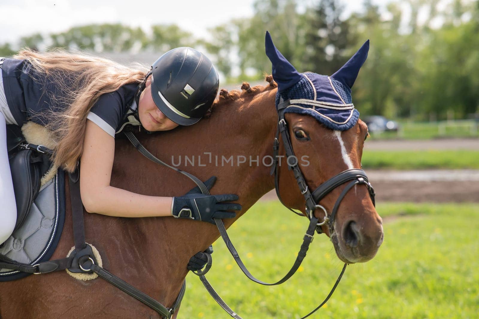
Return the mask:
[[[279,194],[279,181],[278,181],[279,180],[279,165],[278,165],[277,157],[278,157],[278,150],[279,150],[279,134],[280,133],[283,139],[283,146],[285,147],[285,151],[286,151],[286,159],[288,159],[291,156],[292,157],[295,156],[295,153],[293,151],[293,146],[291,145],[291,139],[289,136],[288,126],[285,119],[285,110],[290,105],[294,105],[291,103],[291,100],[284,101],[283,98],[280,98],[280,103],[278,103],[278,108],[277,108],[278,109],[278,129],[276,130],[276,137],[274,138],[273,166],[271,168],[270,174],[272,175],[274,173],[274,188],[276,189],[276,194],[281,204],[283,204],[286,208],[291,210],[293,213],[299,216],[303,216],[302,214],[299,214],[295,212],[294,210],[292,210],[291,208],[289,208],[288,206],[286,206],[285,203],[283,203],[283,201],[281,200],[281,196]],[[316,188],[311,193],[308,189],[308,185],[306,184],[306,180],[303,176],[303,173],[299,169],[298,161],[296,161],[294,165],[292,165],[288,160],[286,160],[286,163],[288,164],[288,170],[293,170],[299,190],[301,191],[301,194],[303,194],[305,198],[306,216],[311,222],[316,222],[316,231],[318,232],[318,234],[321,234],[323,232],[321,226],[323,226],[326,223],[328,223],[330,235],[332,234],[332,231],[334,230],[334,219],[336,218],[336,213],[338,211],[339,205],[341,204],[341,201],[344,198],[344,196],[346,196],[346,193],[357,184],[366,185],[369,192],[369,196],[371,197],[371,200],[373,202],[373,205],[376,206],[374,189],[371,186],[371,183],[368,182],[366,172],[363,170],[352,169],[352,170],[342,171],[341,173],[331,177],[329,180],[319,185],[318,188]],[[332,190],[334,190],[336,187],[342,185],[345,182],[350,182],[350,183],[346,185],[342,193],[339,195],[331,211],[331,215],[328,216],[328,212],[326,211],[326,208],[324,208],[324,206],[322,205],[319,205],[318,203],[327,194],[331,193]],[[320,209],[324,213],[324,218],[322,222],[317,222],[318,219],[314,216],[314,212],[316,211],[316,209]]]

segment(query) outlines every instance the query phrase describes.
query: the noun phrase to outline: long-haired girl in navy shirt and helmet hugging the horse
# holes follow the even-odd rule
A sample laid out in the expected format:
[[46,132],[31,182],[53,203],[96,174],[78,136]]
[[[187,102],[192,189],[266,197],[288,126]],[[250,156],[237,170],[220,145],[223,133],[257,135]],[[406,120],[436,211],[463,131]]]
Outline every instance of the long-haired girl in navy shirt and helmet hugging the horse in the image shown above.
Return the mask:
[[[214,223],[236,216],[235,194],[157,197],[110,186],[114,136],[125,125],[154,131],[193,125],[216,98],[219,78],[210,60],[188,47],[173,49],[151,67],[62,51],[21,51],[0,59],[0,243],[16,221],[6,147],[6,124],[45,125],[58,141],[53,161],[74,171],[87,212],[121,217],[174,216]],[[88,185],[88,186],[87,186]]]

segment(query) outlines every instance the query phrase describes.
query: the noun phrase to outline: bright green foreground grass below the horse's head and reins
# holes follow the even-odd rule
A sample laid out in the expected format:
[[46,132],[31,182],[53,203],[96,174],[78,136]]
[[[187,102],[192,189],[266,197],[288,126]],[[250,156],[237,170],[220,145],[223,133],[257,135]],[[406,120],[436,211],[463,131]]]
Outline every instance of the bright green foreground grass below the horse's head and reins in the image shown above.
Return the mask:
[[[385,240],[376,257],[348,266],[324,308],[309,318],[477,318],[479,205],[385,204]],[[307,219],[277,202],[261,202],[228,231],[259,279],[273,282],[294,262]],[[329,293],[342,262],[316,235],[299,271],[265,287],[240,272],[222,239],[206,278],[244,319],[300,318]],[[190,273],[178,318],[230,318]]]

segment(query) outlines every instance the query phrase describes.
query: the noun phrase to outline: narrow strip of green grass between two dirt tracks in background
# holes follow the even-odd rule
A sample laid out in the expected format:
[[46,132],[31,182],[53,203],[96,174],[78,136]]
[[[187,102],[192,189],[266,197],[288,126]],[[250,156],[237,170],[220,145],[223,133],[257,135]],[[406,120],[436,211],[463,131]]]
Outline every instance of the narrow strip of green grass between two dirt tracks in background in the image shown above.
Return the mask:
[[365,169],[479,169],[479,150],[367,150],[362,164]]

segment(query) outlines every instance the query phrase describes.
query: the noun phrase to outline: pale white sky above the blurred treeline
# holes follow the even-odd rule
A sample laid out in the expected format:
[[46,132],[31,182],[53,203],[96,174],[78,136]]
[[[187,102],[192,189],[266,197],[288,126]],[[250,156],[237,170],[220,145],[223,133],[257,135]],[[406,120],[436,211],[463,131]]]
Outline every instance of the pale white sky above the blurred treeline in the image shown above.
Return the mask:
[[[312,0],[311,0],[312,1]],[[384,2],[376,0],[374,2]],[[148,31],[153,24],[176,23],[197,37],[208,27],[253,14],[254,0],[0,0],[0,44],[15,43],[21,36],[62,32],[91,23],[122,23]],[[361,2],[348,0],[347,11]]]

